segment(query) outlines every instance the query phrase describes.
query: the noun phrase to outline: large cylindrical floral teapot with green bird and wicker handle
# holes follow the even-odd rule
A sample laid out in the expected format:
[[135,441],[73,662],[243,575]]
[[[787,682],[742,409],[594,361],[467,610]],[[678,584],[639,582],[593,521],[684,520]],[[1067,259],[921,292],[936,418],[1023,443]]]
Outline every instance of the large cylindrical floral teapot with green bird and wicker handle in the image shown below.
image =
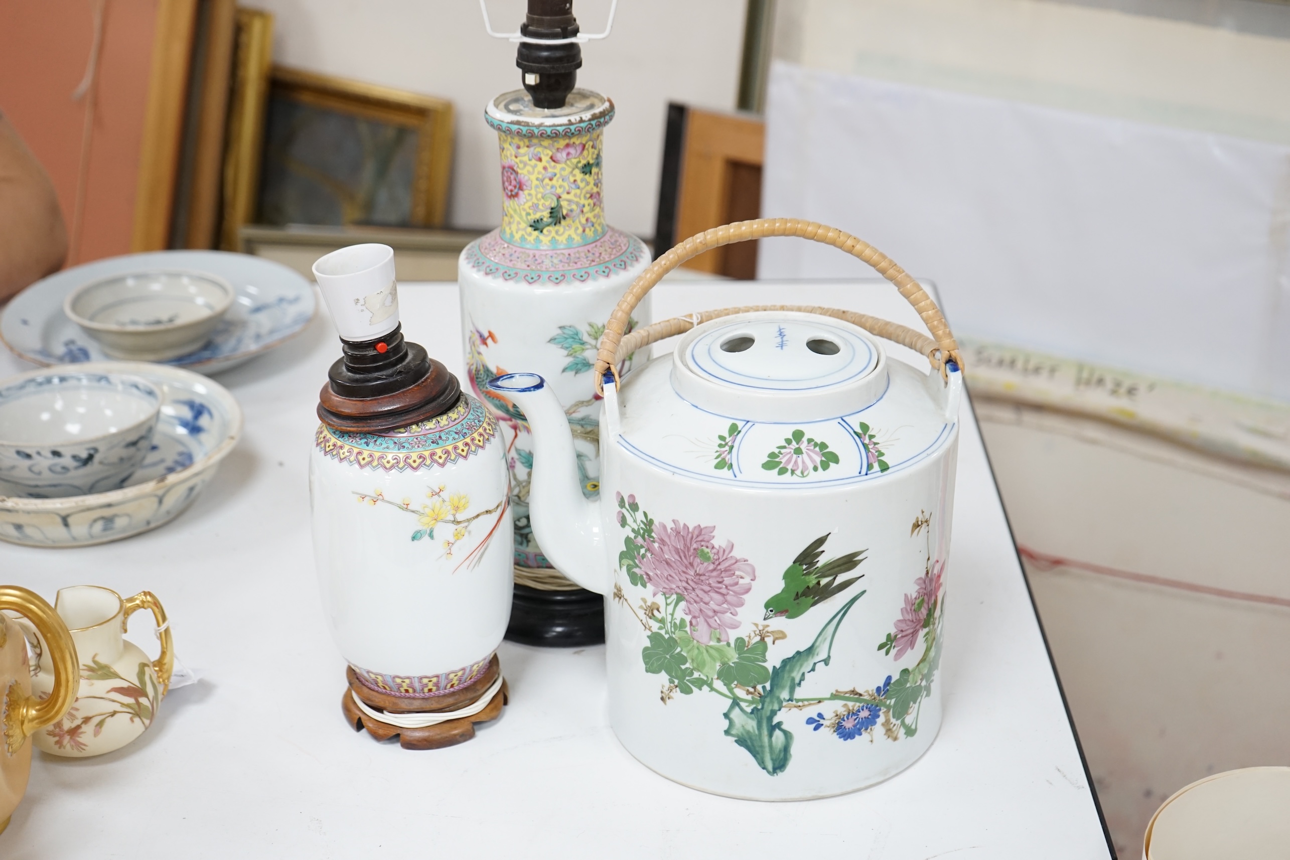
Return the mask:
[[[684,260],[764,236],[873,266],[934,339],[862,313],[744,307],[623,337]],[[618,378],[618,356],[681,334]],[[928,356],[889,361],[878,340]],[[913,763],[940,726],[946,560],[962,395],[924,289],[837,230],[764,219],[677,245],[632,285],[596,361],[601,494],[584,499],[564,409],[537,374],[493,380],[533,428],[533,529],[606,597],[610,721],[641,762],[731,797],[850,792]]]

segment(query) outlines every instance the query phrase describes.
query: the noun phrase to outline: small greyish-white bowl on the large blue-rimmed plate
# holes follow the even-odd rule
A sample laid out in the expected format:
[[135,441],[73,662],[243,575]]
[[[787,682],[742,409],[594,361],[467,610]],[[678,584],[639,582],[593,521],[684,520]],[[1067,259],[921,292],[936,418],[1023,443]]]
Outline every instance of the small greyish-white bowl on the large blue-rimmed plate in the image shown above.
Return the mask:
[[233,297],[228,281],[205,272],[129,272],[72,290],[63,312],[110,356],[165,361],[205,346]]

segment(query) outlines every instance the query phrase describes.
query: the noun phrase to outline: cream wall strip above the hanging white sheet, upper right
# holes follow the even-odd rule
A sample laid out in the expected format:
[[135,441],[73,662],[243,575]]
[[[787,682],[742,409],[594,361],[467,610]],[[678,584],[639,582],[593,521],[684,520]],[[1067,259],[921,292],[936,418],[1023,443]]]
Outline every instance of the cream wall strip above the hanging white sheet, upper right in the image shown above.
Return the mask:
[[[1290,143],[1290,39],[1096,5],[1183,0],[780,0],[774,53],[811,68]],[[1290,8],[1202,0],[1240,18]],[[1229,8],[1231,6],[1231,8]],[[1253,22],[1260,23],[1260,22]]]

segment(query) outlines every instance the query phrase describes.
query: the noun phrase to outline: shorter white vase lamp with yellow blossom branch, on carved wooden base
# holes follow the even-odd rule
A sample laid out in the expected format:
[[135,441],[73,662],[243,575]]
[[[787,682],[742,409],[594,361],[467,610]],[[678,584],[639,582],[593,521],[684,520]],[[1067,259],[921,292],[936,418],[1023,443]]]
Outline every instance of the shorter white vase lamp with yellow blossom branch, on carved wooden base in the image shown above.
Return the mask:
[[343,357],[310,459],[322,607],[355,730],[406,749],[470,740],[506,704],[511,512],[497,420],[399,322],[393,251],[313,264]]

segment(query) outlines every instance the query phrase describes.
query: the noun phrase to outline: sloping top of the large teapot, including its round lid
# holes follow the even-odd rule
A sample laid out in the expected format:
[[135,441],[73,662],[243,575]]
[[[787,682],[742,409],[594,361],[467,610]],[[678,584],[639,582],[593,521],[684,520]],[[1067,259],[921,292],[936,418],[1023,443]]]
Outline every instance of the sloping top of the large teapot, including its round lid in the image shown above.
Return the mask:
[[797,311],[717,317],[611,383],[618,450],[671,474],[774,490],[868,482],[925,462],[956,438],[962,389],[957,369],[943,382],[889,360],[851,322]]

